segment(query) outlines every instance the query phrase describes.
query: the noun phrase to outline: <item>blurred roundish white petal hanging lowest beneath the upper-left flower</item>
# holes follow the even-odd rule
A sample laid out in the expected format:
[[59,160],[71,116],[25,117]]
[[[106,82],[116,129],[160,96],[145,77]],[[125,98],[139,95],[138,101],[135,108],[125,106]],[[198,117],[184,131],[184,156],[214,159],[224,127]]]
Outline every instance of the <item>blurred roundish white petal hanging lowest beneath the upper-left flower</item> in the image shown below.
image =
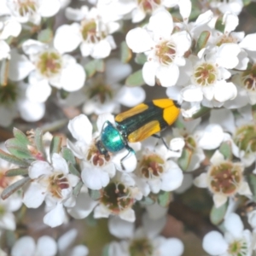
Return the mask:
[[36,122],[44,117],[45,105],[44,103],[31,102],[22,99],[18,102],[20,116],[27,122]]

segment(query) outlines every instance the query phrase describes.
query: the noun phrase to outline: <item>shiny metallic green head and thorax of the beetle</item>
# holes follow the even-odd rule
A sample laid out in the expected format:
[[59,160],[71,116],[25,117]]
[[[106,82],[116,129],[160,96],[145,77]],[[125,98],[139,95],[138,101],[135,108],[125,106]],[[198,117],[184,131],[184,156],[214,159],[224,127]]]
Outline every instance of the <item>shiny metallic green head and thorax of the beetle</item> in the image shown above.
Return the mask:
[[96,145],[101,154],[106,154],[106,150],[109,152],[120,151],[125,148],[126,143],[118,129],[107,121],[103,125],[100,141]]

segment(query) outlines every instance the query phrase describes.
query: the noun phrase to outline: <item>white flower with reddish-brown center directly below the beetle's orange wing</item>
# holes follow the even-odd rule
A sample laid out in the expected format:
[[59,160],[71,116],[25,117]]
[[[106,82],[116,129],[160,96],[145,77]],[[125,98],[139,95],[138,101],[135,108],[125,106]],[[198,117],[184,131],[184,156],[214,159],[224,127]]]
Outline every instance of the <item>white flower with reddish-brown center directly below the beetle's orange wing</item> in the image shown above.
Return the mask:
[[137,184],[147,196],[150,192],[157,194],[160,190],[172,191],[183,182],[183,172],[177,164],[170,160],[172,151],[165,145],[156,146],[154,150],[146,148],[139,158],[135,172]]

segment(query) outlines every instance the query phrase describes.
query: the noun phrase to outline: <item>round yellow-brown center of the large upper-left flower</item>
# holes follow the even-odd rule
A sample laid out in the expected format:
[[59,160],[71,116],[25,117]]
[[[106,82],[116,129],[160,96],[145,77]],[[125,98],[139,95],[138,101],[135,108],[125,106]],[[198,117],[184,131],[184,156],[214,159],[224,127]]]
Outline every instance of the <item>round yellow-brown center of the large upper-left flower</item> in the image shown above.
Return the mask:
[[36,64],[38,71],[46,78],[59,74],[62,67],[61,55],[55,50],[44,51],[38,56]]

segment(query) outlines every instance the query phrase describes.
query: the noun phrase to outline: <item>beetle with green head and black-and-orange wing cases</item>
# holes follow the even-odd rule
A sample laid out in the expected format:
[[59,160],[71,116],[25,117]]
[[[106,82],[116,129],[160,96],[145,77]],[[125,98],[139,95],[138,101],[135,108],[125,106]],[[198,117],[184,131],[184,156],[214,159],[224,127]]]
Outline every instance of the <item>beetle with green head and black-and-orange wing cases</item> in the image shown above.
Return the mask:
[[180,106],[171,99],[141,103],[119,113],[114,119],[116,126],[106,121],[101,135],[96,141],[96,147],[105,156],[108,155],[108,152],[116,153],[123,148],[129,151],[128,154],[134,153],[128,143],[141,142],[150,136],[157,137],[155,134],[172,125],[179,113]]

